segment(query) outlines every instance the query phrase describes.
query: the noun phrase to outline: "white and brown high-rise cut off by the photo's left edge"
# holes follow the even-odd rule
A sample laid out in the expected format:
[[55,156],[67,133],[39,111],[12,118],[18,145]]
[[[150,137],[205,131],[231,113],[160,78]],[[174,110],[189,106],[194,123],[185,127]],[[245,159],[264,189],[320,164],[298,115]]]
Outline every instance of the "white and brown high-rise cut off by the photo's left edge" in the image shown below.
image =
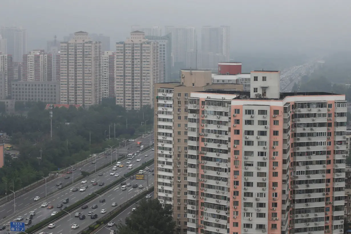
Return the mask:
[[0,53],[0,72],[5,72],[4,75],[4,92],[5,98],[11,95],[11,82],[13,81],[13,61],[11,54]]

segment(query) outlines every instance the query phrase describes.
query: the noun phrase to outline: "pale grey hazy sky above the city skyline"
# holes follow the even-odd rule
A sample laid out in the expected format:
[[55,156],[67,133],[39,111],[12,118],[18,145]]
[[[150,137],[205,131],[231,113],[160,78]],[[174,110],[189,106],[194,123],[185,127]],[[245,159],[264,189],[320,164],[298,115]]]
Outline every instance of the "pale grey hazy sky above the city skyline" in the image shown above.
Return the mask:
[[349,50],[350,12],[351,0],[0,0],[0,25],[26,28],[28,49],[76,31],[114,44],[131,25],[196,26],[199,36],[202,25],[230,25],[232,51]]

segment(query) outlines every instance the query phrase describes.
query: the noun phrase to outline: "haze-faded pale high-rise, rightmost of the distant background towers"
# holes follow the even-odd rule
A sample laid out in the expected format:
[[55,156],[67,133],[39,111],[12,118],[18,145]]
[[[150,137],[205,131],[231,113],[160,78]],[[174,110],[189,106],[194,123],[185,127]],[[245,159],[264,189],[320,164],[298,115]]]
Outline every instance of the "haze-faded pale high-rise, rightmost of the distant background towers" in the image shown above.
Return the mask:
[[203,26],[201,28],[201,53],[203,67],[214,68],[218,62],[229,61],[230,27]]

